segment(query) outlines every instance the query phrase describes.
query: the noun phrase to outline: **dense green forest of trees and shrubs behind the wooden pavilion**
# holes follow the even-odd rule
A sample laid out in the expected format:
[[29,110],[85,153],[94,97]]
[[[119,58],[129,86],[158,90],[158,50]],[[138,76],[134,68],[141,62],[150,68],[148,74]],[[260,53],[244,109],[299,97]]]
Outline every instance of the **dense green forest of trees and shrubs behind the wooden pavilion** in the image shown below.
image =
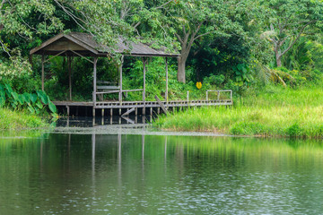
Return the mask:
[[[37,93],[40,58],[31,64],[29,51],[62,31],[90,33],[109,47],[123,37],[179,52],[178,59],[169,59],[170,99],[184,99],[187,91],[191,99],[203,99],[205,90],[230,89],[238,98],[277,93],[276,86],[317,86],[323,73],[322,19],[323,3],[318,0],[3,0],[0,106],[29,107],[19,102],[24,93],[47,101]],[[113,52],[100,59],[100,80],[118,82],[118,59]],[[164,59],[153,57],[148,63],[147,98],[162,98]],[[46,64],[50,99],[68,99],[66,71],[65,57]],[[91,100],[92,64],[74,57],[73,71],[73,98]],[[123,88],[141,88],[142,71],[142,59],[126,57]],[[202,82],[201,89],[196,82]],[[5,94],[8,86],[16,98]],[[140,98],[134,93],[128,99]],[[31,112],[39,112],[36,100],[30,103]]]

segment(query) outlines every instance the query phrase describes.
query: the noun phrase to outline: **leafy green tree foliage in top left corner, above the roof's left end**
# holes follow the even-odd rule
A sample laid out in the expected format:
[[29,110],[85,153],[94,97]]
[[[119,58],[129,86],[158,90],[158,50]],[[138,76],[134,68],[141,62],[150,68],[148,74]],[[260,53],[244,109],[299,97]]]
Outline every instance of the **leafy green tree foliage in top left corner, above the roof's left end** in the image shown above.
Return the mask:
[[2,0],[0,3],[0,44],[11,56],[7,40],[14,35],[31,40],[35,35],[47,35],[62,30],[63,23],[56,16],[56,5],[48,0]]

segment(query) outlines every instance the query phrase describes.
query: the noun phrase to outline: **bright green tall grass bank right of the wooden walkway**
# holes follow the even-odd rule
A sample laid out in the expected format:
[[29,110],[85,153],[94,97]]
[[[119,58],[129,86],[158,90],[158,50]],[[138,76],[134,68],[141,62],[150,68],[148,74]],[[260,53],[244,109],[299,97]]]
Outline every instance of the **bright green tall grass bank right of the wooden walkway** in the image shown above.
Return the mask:
[[234,107],[191,108],[159,117],[154,125],[176,131],[323,137],[323,88],[271,87],[236,99]]

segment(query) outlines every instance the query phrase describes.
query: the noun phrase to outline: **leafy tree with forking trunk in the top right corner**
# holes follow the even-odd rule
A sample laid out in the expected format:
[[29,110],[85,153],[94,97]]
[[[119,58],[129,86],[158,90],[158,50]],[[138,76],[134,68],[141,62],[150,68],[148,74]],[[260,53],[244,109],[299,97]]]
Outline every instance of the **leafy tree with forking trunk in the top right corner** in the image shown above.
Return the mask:
[[323,4],[319,0],[261,0],[259,6],[267,26],[262,36],[272,44],[277,66],[282,66],[282,57],[298,39],[322,27]]

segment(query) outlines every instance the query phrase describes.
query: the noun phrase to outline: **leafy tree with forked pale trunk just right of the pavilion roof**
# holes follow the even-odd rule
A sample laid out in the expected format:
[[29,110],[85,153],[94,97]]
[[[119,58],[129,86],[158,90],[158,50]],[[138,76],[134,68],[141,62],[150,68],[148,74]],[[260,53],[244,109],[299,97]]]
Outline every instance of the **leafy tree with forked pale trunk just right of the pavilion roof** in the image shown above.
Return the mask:
[[231,13],[235,1],[223,0],[174,0],[162,7],[168,16],[170,35],[180,44],[178,58],[178,81],[186,82],[185,67],[191,47],[205,35],[230,36],[240,31],[239,22],[234,22]]

